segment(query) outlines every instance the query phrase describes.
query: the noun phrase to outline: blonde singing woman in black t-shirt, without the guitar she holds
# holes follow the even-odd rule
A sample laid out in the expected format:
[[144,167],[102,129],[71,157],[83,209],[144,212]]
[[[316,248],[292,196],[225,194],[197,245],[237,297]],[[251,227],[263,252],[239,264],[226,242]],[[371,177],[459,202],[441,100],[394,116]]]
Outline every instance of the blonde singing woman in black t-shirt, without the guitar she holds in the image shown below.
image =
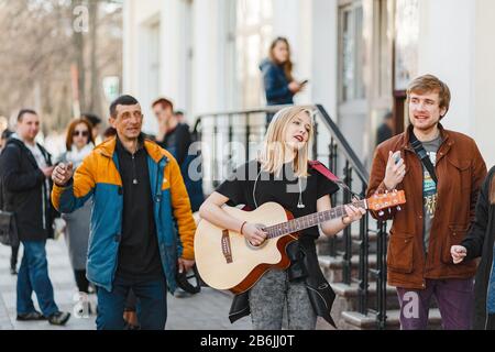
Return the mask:
[[[277,202],[295,218],[330,210],[330,195],[338,186],[311,168],[309,141],[314,128],[311,112],[290,107],[272,120],[263,148],[256,161],[239,167],[201,206],[200,216],[209,222],[243,234],[258,246],[266,232],[254,223],[235,219],[221,207],[244,205],[256,209],[265,202]],[[365,213],[364,209],[345,207],[346,217],[321,223],[326,235],[334,235]],[[298,241],[287,246],[290,266],[271,270],[246,293],[235,296],[230,319],[250,314],[255,330],[279,330],[284,311],[288,329],[312,330],[317,316],[333,324],[330,317],[334,294],[318,264],[315,240],[318,227],[300,232]]]

